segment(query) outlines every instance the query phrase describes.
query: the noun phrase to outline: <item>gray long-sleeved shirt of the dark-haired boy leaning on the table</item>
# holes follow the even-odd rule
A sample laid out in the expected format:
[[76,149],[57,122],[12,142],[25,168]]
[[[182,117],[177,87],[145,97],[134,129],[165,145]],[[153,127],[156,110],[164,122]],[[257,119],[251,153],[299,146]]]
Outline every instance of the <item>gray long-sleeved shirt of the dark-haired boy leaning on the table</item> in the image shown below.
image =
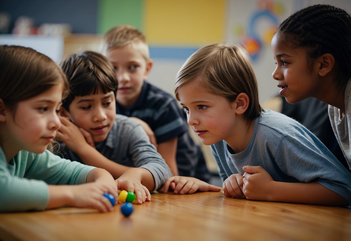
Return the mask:
[[[123,115],[116,115],[106,139],[95,143],[95,148],[106,158],[127,167],[145,168],[151,172],[155,189],[160,188],[171,171],[165,160],[150,143],[141,125]],[[67,146],[60,152],[66,159],[82,162]]]

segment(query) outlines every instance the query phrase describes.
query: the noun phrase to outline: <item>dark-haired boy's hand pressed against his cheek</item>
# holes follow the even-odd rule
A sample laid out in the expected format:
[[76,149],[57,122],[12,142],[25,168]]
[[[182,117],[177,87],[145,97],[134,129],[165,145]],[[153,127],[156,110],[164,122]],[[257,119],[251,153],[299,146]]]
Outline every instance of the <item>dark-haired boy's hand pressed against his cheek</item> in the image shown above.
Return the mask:
[[85,136],[79,130],[78,126],[73,124],[66,117],[59,118],[62,125],[57,132],[58,138],[60,138],[69,149],[75,153],[78,153],[78,151],[81,149],[81,145],[87,144]]

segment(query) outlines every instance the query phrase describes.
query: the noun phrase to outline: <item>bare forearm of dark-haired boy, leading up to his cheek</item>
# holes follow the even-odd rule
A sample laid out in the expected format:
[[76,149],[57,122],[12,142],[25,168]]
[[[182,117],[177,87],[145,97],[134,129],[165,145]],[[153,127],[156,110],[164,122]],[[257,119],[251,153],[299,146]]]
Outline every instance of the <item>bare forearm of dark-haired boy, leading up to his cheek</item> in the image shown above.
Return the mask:
[[119,178],[126,170],[131,169],[131,167],[111,161],[88,144],[76,154],[84,164],[105,169],[111,173],[114,179]]

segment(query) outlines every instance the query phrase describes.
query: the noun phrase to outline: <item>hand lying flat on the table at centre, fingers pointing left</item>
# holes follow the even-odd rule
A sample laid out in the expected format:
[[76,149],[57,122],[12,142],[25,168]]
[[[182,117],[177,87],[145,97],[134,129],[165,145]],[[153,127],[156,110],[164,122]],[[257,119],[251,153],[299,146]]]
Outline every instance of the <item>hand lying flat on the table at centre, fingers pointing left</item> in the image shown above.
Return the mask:
[[163,192],[167,193],[170,187],[174,190],[175,194],[192,194],[196,191],[220,191],[220,187],[208,184],[195,177],[184,176],[168,178],[163,186]]

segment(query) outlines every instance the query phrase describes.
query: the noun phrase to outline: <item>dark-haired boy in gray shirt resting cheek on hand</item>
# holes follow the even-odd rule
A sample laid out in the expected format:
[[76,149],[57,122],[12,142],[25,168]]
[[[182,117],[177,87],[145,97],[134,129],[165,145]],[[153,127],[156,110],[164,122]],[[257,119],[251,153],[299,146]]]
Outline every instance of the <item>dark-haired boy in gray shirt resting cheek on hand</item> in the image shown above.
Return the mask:
[[171,173],[141,126],[126,116],[116,115],[117,80],[112,64],[102,54],[86,51],[69,56],[61,67],[70,91],[62,101],[61,115],[68,119],[60,118],[58,137],[66,144],[61,154],[103,168],[114,178],[138,167],[133,168],[138,173],[132,180],[146,187],[143,201],[145,195],[150,201],[149,190],[161,187]]

